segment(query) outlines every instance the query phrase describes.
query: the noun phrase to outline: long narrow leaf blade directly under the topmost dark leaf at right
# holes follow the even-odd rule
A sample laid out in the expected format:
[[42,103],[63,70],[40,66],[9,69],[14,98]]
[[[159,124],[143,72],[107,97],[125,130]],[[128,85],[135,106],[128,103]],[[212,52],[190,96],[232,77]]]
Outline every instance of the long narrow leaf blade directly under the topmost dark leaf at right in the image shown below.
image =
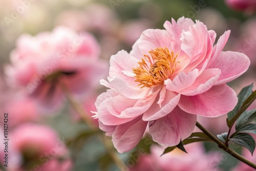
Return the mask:
[[227,119],[227,125],[228,127],[232,127],[234,122],[239,118],[239,116],[251,105],[251,103],[256,99],[256,90],[252,92],[252,94],[244,101],[243,105],[241,106],[241,109],[238,111],[232,119]]

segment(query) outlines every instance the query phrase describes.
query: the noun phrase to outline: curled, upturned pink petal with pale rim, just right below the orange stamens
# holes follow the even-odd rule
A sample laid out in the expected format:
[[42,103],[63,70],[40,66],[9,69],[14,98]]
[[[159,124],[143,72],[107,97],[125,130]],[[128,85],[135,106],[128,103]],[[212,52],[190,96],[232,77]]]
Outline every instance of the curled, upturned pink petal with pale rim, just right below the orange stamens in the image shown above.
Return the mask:
[[197,77],[196,81],[190,87],[179,91],[179,93],[185,96],[195,96],[206,92],[214,86],[215,82],[220,77],[220,74],[220,69],[206,69]]

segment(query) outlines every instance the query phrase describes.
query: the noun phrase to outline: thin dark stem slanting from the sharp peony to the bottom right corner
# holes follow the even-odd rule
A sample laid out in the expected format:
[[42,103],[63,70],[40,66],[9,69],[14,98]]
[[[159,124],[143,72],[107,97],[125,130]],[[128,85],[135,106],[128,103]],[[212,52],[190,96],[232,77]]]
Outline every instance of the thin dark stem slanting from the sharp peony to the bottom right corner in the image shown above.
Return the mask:
[[206,135],[208,135],[212,140],[214,140],[218,146],[220,148],[222,148],[225,152],[227,152],[228,154],[230,154],[231,156],[237,158],[238,160],[248,164],[249,166],[256,168],[256,164],[247,160],[246,158],[244,158],[243,156],[241,156],[240,154],[238,154],[237,152],[233,151],[232,149],[230,149],[227,145],[225,145],[223,142],[221,142],[216,136],[214,136],[213,134],[211,134],[208,130],[205,129],[205,127],[203,127],[203,125],[201,125],[199,122],[196,123],[197,127]]

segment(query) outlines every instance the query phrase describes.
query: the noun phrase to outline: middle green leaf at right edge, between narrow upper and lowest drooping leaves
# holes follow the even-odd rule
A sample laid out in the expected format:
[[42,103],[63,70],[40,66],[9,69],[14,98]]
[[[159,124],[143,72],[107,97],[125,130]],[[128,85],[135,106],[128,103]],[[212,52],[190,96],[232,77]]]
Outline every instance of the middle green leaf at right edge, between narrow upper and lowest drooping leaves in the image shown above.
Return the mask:
[[241,126],[250,123],[255,118],[256,118],[256,110],[245,111],[237,120],[236,130],[238,130]]

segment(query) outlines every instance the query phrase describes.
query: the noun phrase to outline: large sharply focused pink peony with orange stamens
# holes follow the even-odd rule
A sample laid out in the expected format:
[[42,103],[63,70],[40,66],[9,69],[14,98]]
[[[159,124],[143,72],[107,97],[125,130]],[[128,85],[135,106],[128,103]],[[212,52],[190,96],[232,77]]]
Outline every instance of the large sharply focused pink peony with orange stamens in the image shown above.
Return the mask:
[[177,145],[193,132],[197,115],[220,116],[237,103],[225,83],[250,61],[222,52],[230,31],[213,46],[216,33],[199,21],[181,17],[164,27],[145,30],[130,54],[111,56],[108,81],[100,81],[110,90],[98,96],[95,117],[120,153],[136,146],[147,126],[160,145]]

